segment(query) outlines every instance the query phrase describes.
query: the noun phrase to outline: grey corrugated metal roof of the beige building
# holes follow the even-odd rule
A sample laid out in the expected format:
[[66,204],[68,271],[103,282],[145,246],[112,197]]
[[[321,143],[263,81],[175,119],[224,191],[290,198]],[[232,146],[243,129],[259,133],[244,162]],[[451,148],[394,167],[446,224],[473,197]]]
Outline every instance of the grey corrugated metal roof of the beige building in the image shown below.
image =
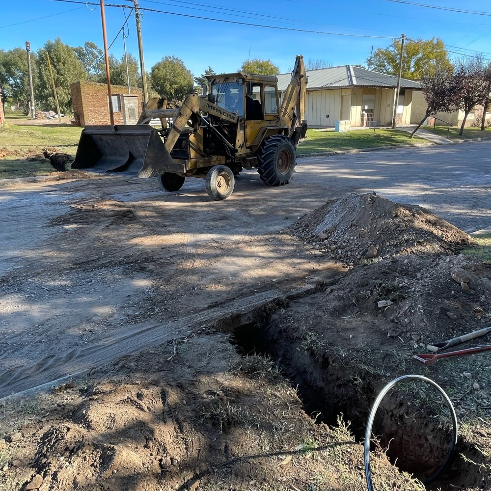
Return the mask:
[[[331,89],[344,87],[396,87],[397,77],[374,72],[359,66],[342,65],[331,68],[307,71],[307,89]],[[282,73],[277,75],[278,90],[285,90],[292,75]],[[402,89],[420,89],[421,84],[414,80],[401,79]]]

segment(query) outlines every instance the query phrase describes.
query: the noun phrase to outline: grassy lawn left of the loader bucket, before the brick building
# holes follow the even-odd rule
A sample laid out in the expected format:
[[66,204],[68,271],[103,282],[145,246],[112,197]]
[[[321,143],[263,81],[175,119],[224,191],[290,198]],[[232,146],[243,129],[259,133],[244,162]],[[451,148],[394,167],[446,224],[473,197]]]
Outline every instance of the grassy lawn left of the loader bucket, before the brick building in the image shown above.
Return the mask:
[[[66,124],[28,125],[6,118],[0,128],[0,179],[44,175],[55,169],[43,158],[43,148],[75,155],[82,128]],[[24,124],[23,124],[24,123]]]

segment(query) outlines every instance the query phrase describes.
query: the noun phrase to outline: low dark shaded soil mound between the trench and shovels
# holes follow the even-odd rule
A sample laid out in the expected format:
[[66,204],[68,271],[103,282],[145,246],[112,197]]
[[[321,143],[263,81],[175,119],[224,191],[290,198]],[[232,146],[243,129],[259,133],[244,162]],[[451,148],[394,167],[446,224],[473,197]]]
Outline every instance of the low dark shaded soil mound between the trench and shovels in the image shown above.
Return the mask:
[[355,268],[324,299],[326,313],[377,319],[367,334],[379,345],[382,335],[426,346],[489,325],[490,278],[480,261],[462,254],[395,256]]

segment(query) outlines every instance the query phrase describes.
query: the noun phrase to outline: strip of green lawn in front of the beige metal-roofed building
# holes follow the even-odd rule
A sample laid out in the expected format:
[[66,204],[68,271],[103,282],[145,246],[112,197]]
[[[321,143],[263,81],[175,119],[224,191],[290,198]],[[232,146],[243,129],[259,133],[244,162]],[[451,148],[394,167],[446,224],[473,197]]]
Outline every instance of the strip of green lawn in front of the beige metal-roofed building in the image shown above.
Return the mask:
[[345,133],[334,131],[307,130],[307,138],[297,149],[297,154],[336,152],[394,145],[415,145],[426,142],[423,138],[409,138],[410,134],[398,130],[352,130]]

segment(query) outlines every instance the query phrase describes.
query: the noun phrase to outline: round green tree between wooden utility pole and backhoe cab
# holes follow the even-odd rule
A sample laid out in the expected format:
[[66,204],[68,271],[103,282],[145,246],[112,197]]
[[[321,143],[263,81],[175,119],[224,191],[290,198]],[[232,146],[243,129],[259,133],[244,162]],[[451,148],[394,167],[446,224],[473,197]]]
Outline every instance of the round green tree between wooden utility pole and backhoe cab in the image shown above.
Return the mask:
[[176,56],[165,56],[150,70],[152,87],[167,100],[182,100],[193,89],[193,77],[184,62]]

